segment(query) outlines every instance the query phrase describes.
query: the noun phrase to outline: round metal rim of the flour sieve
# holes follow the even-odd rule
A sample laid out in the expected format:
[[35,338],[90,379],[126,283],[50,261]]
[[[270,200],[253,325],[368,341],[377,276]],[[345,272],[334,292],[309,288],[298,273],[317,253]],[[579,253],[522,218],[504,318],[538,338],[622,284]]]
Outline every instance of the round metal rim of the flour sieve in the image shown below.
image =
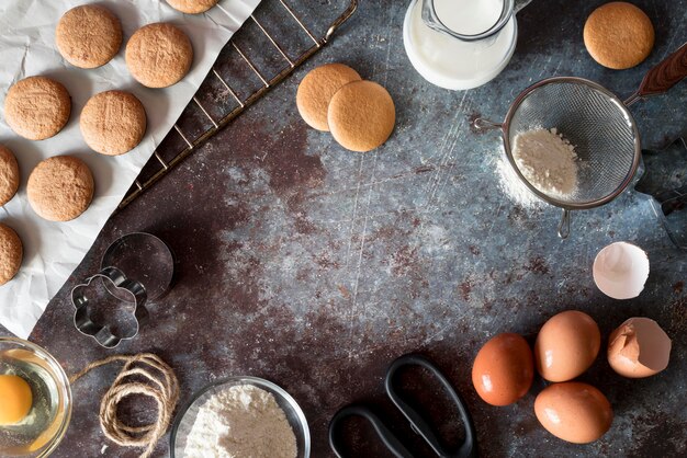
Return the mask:
[[[567,83],[575,83],[575,84],[585,84],[585,85],[588,85],[588,87],[590,87],[590,88],[601,92],[602,94],[605,94],[608,98],[610,98],[611,100],[613,100],[616,102],[616,104],[618,105],[618,108],[622,110],[622,112],[624,113],[627,118],[630,121],[630,125],[632,126],[632,133],[634,135],[634,157],[632,159],[632,165],[630,167],[630,170],[628,171],[628,174],[626,175],[626,178],[622,181],[622,183],[620,183],[620,185],[612,193],[608,194],[607,196],[605,196],[602,198],[599,198],[599,199],[596,199],[596,201],[586,202],[584,204],[571,204],[571,203],[560,202],[560,201],[558,201],[555,198],[552,198],[552,197],[548,196],[547,194],[542,193],[541,191],[537,190],[522,175],[522,173],[520,173],[520,169],[516,164],[515,158],[513,157],[513,151],[510,149],[510,138],[509,138],[508,131],[510,130],[510,122],[513,119],[513,116],[515,115],[515,112],[518,110],[520,104],[525,101],[525,99],[527,99],[527,96],[530,93],[532,93],[538,88],[541,88],[543,85],[551,84],[551,83],[561,83],[561,82],[564,82],[564,83],[565,82],[567,82]],[[543,80],[541,80],[539,82],[536,82],[534,84],[530,85],[525,91],[520,92],[520,94],[516,98],[516,100],[514,100],[513,103],[510,104],[510,107],[508,108],[508,113],[506,113],[506,119],[504,121],[502,129],[503,129],[503,137],[504,137],[504,146],[505,146],[505,149],[506,149],[506,157],[508,158],[508,162],[510,162],[510,167],[516,172],[516,174],[518,175],[520,181],[527,186],[528,190],[530,190],[532,193],[534,193],[534,195],[537,195],[539,198],[541,198],[545,203],[548,203],[550,205],[553,205],[555,207],[559,207],[559,208],[564,208],[566,210],[584,210],[584,209],[588,209],[588,208],[594,208],[594,207],[598,207],[598,206],[601,206],[604,204],[607,204],[610,201],[615,199],[632,182],[632,178],[637,173],[637,168],[639,167],[639,163],[640,163],[640,158],[641,158],[641,152],[642,152],[642,148],[640,146],[640,133],[639,133],[639,130],[637,128],[637,123],[634,122],[634,117],[632,116],[632,113],[630,113],[630,111],[624,105],[624,103],[616,94],[613,94],[612,92],[610,92],[608,89],[604,88],[602,85],[600,85],[600,84],[598,84],[598,83],[596,83],[594,81],[589,81],[587,79],[584,79],[584,78],[577,78],[577,77],[553,77],[553,78],[543,79]]]

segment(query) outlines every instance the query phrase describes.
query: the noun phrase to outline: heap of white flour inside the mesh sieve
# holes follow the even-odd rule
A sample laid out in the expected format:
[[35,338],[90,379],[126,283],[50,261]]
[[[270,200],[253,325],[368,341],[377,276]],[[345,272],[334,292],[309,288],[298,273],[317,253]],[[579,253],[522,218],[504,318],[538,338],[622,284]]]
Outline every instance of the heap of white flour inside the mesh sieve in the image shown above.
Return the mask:
[[533,129],[518,134],[513,158],[522,175],[539,191],[570,196],[577,188],[575,147],[556,129]]

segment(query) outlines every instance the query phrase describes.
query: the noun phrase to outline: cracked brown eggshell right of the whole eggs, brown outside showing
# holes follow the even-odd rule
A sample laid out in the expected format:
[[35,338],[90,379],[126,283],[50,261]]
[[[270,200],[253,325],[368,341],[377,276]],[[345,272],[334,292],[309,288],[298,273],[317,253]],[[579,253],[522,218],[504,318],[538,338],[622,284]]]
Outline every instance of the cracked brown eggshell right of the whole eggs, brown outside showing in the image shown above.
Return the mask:
[[668,366],[671,337],[649,318],[630,318],[608,339],[608,363],[628,378],[658,374]]

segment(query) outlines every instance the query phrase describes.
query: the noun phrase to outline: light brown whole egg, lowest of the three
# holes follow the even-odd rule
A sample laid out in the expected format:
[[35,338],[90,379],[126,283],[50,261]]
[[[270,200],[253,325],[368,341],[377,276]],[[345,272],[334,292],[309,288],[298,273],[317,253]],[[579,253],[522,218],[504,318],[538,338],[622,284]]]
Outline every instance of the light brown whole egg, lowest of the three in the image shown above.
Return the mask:
[[601,437],[613,420],[602,392],[579,381],[553,383],[534,400],[539,423],[554,436],[575,444]]

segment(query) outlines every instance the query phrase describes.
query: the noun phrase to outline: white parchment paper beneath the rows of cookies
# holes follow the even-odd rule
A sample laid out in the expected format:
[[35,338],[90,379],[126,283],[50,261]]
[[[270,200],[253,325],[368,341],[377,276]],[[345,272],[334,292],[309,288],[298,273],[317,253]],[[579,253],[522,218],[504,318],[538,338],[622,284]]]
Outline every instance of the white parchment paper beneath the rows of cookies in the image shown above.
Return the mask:
[[[0,1],[0,144],[19,161],[19,193],[0,208],[0,221],[12,227],[24,244],[19,274],[0,286],[0,323],[20,337],[27,337],[49,299],[59,290],[83,259],[109,216],[156,146],[162,141],[210,71],[222,47],[248,19],[259,0],[222,0],[205,14],[182,14],[164,0],[99,1],[122,22],[124,43],[108,65],[83,70],[70,66],[55,46],[55,27],[69,9],[90,0],[2,0]],[[128,37],[153,22],[171,22],[181,27],[193,44],[191,72],[167,89],[147,89],[126,70],[124,48]],[[63,131],[43,141],[25,140],[4,122],[8,89],[22,78],[47,76],[61,82],[71,94],[71,117]],[[144,104],[148,129],[143,142],[120,157],[91,151],[79,129],[79,114],[88,99],[101,91],[123,89]],[[41,219],[29,205],[26,180],[43,159],[72,154],[92,170],[95,194],[89,209],[68,222]]]

